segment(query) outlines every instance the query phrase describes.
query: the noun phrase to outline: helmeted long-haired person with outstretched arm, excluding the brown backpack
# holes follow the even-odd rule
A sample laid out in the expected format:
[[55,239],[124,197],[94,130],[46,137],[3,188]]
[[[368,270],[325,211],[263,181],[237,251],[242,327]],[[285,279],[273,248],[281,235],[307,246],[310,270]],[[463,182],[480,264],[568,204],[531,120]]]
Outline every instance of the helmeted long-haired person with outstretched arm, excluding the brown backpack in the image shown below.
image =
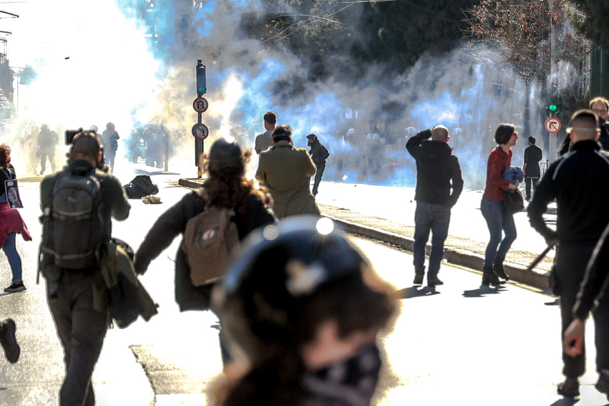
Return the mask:
[[[203,186],[186,194],[161,214],[139,246],[135,254],[135,270],[139,274],[146,272],[150,262],[169,247],[176,236],[183,236],[188,220],[208,206],[234,209],[231,222],[237,226],[239,239],[276,221],[267,195],[255,189],[253,181],[245,177],[245,164],[251,155],[251,149],[242,152],[236,142],[228,142],[224,138],[214,141],[209,156],[203,159],[203,169],[209,173]],[[213,284],[192,284],[182,244],[175,256],[175,301],[182,312],[208,310]]]

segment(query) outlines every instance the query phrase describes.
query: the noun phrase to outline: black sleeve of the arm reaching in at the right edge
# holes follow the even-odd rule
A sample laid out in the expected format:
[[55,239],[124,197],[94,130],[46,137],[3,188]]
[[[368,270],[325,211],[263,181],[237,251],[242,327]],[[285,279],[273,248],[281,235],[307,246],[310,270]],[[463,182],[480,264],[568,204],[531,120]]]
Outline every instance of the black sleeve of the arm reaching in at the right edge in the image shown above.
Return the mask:
[[609,289],[609,226],[605,228],[594,253],[588,262],[586,274],[577,293],[577,301],[573,307],[573,315],[580,320],[586,320],[588,314],[596,305],[596,299]]

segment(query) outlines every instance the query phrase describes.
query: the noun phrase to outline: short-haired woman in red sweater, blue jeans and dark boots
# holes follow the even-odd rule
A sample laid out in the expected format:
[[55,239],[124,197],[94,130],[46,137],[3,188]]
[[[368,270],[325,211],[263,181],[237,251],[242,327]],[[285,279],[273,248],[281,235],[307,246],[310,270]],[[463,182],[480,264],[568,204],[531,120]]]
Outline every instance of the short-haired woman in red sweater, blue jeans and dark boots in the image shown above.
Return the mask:
[[[518,132],[513,124],[499,124],[495,130],[495,142],[498,144],[488,155],[487,183],[480,209],[487,222],[490,240],[484,253],[482,284],[498,285],[509,277],[505,274],[503,262],[505,255],[516,240],[514,217],[503,205],[505,191],[518,189],[518,182],[509,183],[501,173],[512,164],[512,149],[518,141]],[[501,239],[501,233],[504,233]],[[501,278],[501,279],[499,279]]]

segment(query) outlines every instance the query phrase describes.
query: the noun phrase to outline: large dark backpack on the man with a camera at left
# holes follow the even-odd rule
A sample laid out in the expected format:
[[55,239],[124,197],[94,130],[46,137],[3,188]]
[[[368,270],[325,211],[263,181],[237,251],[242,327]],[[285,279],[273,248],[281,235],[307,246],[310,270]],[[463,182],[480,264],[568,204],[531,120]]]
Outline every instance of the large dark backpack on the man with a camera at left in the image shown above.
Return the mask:
[[[58,173],[50,208],[43,208],[43,242],[45,262],[59,268],[83,269],[99,264],[102,243],[107,240],[99,179],[93,175]],[[109,236],[108,236],[109,238]]]

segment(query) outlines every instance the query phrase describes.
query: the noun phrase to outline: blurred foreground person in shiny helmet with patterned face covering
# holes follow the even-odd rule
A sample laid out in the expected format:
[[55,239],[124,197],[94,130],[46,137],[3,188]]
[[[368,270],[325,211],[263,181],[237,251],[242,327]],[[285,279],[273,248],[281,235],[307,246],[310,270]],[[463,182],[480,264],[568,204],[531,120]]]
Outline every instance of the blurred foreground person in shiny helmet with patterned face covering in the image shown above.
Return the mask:
[[214,404],[369,405],[389,288],[327,218],[252,233],[213,293],[233,362]]

